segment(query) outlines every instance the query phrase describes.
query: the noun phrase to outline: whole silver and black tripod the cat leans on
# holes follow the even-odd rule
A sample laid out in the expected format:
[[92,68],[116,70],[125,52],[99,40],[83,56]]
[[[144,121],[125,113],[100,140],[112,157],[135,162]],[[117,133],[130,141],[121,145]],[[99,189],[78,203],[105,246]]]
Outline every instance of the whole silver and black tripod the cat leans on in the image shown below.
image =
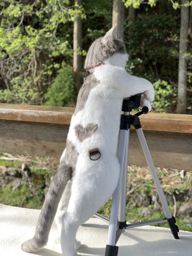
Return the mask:
[[[118,154],[117,158],[120,163],[120,176],[119,181],[116,187],[116,190],[113,193],[112,197],[112,206],[111,206],[111,215],[110,219],[96,213],[94,216],[102,219],[109,223],[109,233],[108,241],[106,245],[105,256],[117,256],[118,255],[118,246],[116,243],[122,233],[125,232],[125,229],[140,227],[144,225],[158,224],[162,222],[168,222],[171,233],[175,239],[179,239],[175,218],[171,215],[170,209],[167,203],[167,200],[164,195],[164,191],[161,188],[161,183],[159,181],[158,175],[155,170],[155,166],[152,161],[143,131],[138,116],[142,114],[147,114],[149,109],[148,107],[143,107],[141,112],[136,113],[135,115],[130,115],[132,108],[138,108],[140,105],[141,94],[134,95],[128,99],[124,99],[122,105],[122,111],[124,112],[121,115],[121,124],[120,124],[120,133],[119,133],[119,145],[118,145]],[[126,208],[126,193],[127,193],[127,172],[128,172],[128,151],[129,151],[129,134],[131,125],[136,129],[140,144],[143,149],[147,164],[152,174],[153,181],[155,183],[158,196],[161,201],[161,205],[164,209],[166,218],[156,219],[151,221],[142,221],[133,224],[127,224],[125,220],[125,208]]]

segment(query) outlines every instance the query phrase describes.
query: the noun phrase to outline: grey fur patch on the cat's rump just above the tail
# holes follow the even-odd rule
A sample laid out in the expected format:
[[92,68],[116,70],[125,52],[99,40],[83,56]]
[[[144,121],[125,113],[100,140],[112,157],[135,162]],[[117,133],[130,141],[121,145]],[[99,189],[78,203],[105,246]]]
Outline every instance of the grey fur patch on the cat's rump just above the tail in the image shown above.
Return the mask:
[[77,152],[75,145],[71,141],[67,140],[66,152],[64,157],[66,164],[68,164],[74,169],[76,166],[78,156],[79,156],[79,153]]

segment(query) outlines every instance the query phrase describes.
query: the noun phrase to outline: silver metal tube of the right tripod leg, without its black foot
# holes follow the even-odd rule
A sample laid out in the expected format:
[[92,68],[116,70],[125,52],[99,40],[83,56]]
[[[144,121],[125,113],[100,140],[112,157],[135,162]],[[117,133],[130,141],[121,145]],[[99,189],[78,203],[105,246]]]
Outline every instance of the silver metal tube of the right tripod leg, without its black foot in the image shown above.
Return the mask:
[[157,175],[157,172],[156,172],[156,169],[155,169],[155,166],[154,166],[151,154],[149,152],[149,148],[147,146],[147,143],[146,143],[146,140],[145,140],[142,128],[136,129],[136,131],[137,131],[137,135],[139,137],[140,144],[142,146],[143,153],[145,155],[147,164],[148,164],[149,169],[151,171],[151,174],[152,174],[152,177],[153,177],[153,181],[154,181],[155,186],[157,188],[158,196],[159,196],[159,199],[161,201],[161,205],[162,205],[162,207],[164,209],[165,216],[166,216],[167,219],[170,219],[170,218],[172,218],[172,215],[171,215],[171,212],[170,212],[167,200],[165,198],[164,191],[161,188],[161,183],[159,181],[159,177]]

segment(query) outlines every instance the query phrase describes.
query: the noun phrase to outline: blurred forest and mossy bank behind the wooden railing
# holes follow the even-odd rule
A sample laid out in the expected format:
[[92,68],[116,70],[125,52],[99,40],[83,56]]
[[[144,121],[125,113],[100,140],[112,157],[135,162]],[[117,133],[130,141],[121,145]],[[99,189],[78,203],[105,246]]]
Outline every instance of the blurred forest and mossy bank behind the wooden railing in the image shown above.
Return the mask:
[[[153,112],[192,114],[192,1],[0,2],[0,103],[75,107],[88,48],[117,26],[127,71],[155,87]],[[59,157],[59,156],[58,156]],[[41,209],[59,160],[0,155],[0,202]],[[180,229],[192,231],[192,173],[158,168]],[[127,220],[161,218],[146,167],[130,166]],[[100,210],[109,217],[110,201]]]

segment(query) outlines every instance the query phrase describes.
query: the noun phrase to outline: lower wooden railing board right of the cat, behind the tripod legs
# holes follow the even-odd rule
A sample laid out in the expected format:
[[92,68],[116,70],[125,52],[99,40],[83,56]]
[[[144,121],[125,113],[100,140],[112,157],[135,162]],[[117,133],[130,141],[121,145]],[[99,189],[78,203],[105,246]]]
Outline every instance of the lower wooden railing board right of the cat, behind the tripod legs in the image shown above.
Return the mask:
[[[143,131],[155,167],[192,170],[192,134]],[[129,164],[146,166],[137,133],[130,131]]]

